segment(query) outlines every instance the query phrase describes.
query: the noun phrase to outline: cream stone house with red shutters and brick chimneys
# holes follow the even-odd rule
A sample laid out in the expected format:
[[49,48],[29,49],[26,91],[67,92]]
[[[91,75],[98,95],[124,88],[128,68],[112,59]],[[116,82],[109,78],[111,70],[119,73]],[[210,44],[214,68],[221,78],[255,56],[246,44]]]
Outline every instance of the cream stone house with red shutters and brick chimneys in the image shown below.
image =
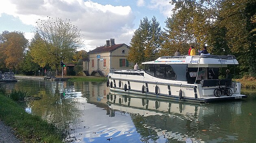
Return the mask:
[[83,59],[84,76],[107,76],[113,69],[128,69],[133,63],[126,57],[130,46],[115,44],[115,39],[106,40],[105,46],[89,51],[89,57]]

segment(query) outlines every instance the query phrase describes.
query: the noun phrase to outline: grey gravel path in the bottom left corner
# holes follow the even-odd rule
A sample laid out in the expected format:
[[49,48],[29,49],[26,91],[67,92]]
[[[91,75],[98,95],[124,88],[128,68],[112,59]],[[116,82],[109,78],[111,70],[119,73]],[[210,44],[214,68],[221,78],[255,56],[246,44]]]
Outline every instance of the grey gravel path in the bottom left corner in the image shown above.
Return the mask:
[[11,127],[6,126],[3,121],[0,120],[0,143],[20,143],[20,140],[14,135],[14,131]]

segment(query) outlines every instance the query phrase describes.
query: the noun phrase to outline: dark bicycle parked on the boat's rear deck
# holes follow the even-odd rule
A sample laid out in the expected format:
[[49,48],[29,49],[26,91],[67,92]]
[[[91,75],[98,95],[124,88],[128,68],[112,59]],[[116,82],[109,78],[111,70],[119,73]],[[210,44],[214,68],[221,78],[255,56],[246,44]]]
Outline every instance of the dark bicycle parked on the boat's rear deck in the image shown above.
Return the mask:
[[216,88],[213,93],[214,93],[214,96],[215,97],[220,97],[221,95],[227,95],[227,96],[232,96],[233,92],[230,88],[228,88],[227,86],[229,84],[227,83],[231,83],[231,81],[229,80],[224,80],[225,81],[225,85],[222,85],[221,84],[221,81],[223,80],[219,80],[219,83],[218,83],[218,88]]

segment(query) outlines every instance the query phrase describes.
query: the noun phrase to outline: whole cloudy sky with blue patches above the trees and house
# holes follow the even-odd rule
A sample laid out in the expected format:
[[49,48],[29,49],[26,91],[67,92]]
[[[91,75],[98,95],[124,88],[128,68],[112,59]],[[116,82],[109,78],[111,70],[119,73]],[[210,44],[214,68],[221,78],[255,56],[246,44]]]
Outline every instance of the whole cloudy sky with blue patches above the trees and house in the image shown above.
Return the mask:
[[[87,52],[102,46],[106,40],[130,45],[134,31],[143,17],[159,21],[162,29],[174,7],[170,0],[1,0],[0,32],[21,31],[33,37],[38,19],[59,17],[82,30]],[[48,17],[47,17],[48,16]]]

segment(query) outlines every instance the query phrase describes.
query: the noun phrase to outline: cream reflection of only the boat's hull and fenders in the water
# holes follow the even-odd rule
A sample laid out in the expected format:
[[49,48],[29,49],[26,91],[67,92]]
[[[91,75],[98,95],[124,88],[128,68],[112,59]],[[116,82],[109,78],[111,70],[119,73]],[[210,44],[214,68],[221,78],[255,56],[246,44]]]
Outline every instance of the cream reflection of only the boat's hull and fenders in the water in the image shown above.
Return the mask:
[[[108,99],[109,97],[109,99]],[[195,103],[184,104],[179,101],[167,101],[159,98],[135,97],[131,95],[107,95],[111,109],[124,110],[129,113],[140,114],[143,116],[163,115],[163,114],[183,114],[195,115],[197,106]]]

